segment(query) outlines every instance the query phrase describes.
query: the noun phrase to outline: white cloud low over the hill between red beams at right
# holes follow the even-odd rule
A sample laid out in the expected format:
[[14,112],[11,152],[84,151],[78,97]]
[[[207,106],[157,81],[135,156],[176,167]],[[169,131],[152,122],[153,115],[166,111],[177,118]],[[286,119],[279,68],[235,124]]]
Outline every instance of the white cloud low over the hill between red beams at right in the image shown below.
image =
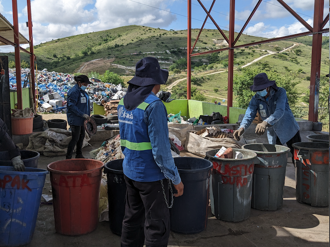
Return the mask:
[[[313,26],[313,19],[308,19],[306,22]],[[268,31],[268,29],[271,30]],[[297,21],[291,25],[285,25],[280,28],[271,27],[270,25],[264,25],[264,22],[259,22],[251,27],[248,27],[244,32],[265,38],[276,38],[305,31],[307,31],[307,29]]]

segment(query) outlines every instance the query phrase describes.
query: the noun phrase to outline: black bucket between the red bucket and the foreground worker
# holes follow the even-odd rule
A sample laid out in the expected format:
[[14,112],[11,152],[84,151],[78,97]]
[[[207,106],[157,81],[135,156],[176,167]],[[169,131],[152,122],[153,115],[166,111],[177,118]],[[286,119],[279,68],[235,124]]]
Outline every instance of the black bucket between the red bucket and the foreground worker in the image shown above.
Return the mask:
[[126,183],[123,172],[123,160],[115,159],[104,165],[107,174],[110,230],[121,236],[121,227],[125,215]]

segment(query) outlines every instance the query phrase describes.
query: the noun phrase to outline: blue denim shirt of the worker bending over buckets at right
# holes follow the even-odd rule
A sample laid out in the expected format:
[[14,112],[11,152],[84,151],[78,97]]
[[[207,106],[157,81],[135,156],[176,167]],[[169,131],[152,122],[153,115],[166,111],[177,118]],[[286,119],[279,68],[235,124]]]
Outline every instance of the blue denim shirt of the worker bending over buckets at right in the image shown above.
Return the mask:
[[269,144],[276,144],[276,137],[279,137],[282,144],[292,139],[299,130],[299,126],[289,107],[288,98],[284,88],[276,91],[270,87],[267,98],[256,93],[250,103],[242,120],[240,128],[247,129],[255,118],[257,111],[261,118],[268,124],[267,138]]

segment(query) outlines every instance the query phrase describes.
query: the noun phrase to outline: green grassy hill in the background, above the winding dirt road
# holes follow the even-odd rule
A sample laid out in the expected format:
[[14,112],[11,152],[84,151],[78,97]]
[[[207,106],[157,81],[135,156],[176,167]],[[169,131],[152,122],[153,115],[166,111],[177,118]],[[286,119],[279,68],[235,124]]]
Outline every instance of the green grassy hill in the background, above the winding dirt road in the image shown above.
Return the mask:
[[[195,41],[199,30],[192,30],[192,42]],[[224,31],[228,36],[228,31]],[[235,33],[237,35],[237,33]],[[146,26],[126,26],[111,30],[90,32],[76,36],[52,40],[34,46],[38,69],[64,73],[84,73],[91,71],[103,73],[110,70],[120,75],[132,75],[135,63],[145,56],[155,56],[164,68],[168,68],[173,61],[186,58],[187,32],[167,31]],[[242,35],[237,45],[265,40],[249,35]],[[203,30],[194,52],[207,51],[226,47],[224,39],[217,30]],[[290,41],[279,41],[264,45],[235,50],[235,64],[243,65],[266,54],[264,50],[279,52],[292,46],[292,42],[311,45],[312,37],[300,37]],[[324,37],[324,46],[329,37]],[[311,49],[304,49],[310,53]],[[9,53],[9,61],[14,61],[14,54]],[[22,53],[22,60],[29,61],[27,54]],[[305,54],[307,55],[307,54]],[[328,54],[329,55],[329,54]],[[329,56],[328,56],[329,57]],[[291,57],[290,57],[291,59]],[[224,51],[216,58],[212,54],[193,57],[192,67],[210,63],[221,64],[228,60],[228,52]],[[307,58],[308,60],[308,58]],[[281,59],[277,60],[281,64]],[[277,64],[277,62],[273,62]],[[221,66],[215,66],[220,68]],[[304,69],[306,70],[306,69]],[[307,73],[307,71],[306,71]]]

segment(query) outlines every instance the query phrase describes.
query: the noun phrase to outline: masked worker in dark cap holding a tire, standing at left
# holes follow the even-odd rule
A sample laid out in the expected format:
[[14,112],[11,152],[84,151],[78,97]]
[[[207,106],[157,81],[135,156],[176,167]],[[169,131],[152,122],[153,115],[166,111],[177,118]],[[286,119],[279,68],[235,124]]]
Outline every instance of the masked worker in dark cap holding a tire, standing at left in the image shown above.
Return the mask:
[[77,145],[76,159],[84,159],[82,156],[82,144],[85,137],[83,121],[89,120],[91,113],[89,96],[85,92],[88,84],[93,84],[85,75],[74,77],[74,85],[67,93],[67,123],[70,125],[72,139],[69,142],[66,152],[66,159],[71,159],[73,150]]

